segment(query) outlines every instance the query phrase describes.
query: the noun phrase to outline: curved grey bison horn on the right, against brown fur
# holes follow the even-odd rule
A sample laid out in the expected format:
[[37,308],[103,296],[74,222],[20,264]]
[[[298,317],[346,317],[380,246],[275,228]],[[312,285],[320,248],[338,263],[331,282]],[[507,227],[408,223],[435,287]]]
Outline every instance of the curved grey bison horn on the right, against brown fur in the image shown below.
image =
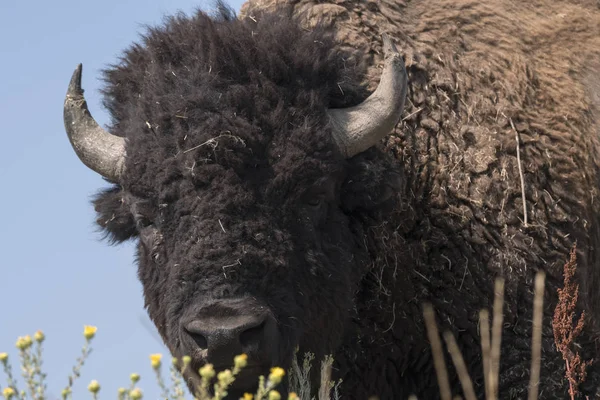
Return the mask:
[[391,133],[402,115],[408,81],[404,60],[387,34],[383,51],[384,68],[375,92],[357,106],[328,110],[334,139],[348,158]]

